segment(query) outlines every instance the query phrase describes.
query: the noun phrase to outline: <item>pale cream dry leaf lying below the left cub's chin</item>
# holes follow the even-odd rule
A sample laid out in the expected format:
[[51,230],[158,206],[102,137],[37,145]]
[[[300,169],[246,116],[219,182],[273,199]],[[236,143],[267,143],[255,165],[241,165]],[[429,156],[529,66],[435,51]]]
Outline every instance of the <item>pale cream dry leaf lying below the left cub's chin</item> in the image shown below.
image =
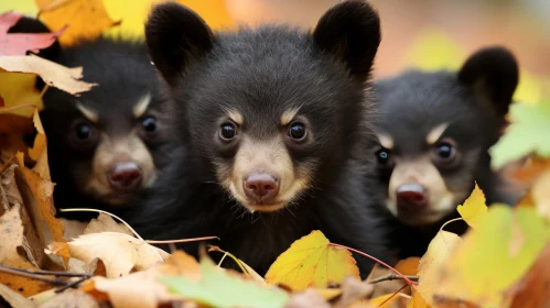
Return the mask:
[[142,240],[117,232],[80,235],[67,243],[71,257],[90,263],[98,257],[105,264],[108,278],[120,277],[131,271],[143,271],[164,262],[169,253]]

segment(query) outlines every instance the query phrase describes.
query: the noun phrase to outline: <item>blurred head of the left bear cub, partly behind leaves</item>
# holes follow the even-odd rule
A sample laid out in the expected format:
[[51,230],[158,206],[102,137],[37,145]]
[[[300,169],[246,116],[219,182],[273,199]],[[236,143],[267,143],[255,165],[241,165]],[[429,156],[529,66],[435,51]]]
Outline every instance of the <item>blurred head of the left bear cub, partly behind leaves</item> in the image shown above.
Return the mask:
[[56,89],[44,96],[52,177],[60,187],[56,205],[82,205],[83,199],[72,196],[86,196],[107,207],[128,206],[155,180],[168,139],[163,98],[147,47],[98,38],[79,42],[52,59],[83,66],[83,79],[98,84],[78,97]]

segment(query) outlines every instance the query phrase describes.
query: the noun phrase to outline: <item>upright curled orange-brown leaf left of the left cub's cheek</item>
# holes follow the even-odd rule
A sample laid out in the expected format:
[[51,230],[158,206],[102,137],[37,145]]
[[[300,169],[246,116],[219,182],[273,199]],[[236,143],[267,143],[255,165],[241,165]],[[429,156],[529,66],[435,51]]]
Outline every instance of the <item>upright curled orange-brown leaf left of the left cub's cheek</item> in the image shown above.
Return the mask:
[[17,155],[19,166],[23,170],[23,184],[20,185],[21,195],[25,204],[25,209],[32,218],[32,224],[37,231],[42,241],[63,241],[63,223],[55,218],[55,207],[53,204],[54,184],[42,178],[37,173],[24,166],[23,153]]

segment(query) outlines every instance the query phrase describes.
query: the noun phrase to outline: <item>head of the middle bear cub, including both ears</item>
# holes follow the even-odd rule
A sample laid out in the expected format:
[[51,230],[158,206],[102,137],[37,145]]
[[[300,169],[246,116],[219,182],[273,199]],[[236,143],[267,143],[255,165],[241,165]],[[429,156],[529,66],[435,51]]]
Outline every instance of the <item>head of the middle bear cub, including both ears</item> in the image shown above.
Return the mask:
[[312,34],[287,26],[214,34],[193,11],[164,3],[145,35],[176,100],[172,113],[188,120],[179,135],[247,210],[299,202],[348,158],[380,42],[367,3],[336,6]]

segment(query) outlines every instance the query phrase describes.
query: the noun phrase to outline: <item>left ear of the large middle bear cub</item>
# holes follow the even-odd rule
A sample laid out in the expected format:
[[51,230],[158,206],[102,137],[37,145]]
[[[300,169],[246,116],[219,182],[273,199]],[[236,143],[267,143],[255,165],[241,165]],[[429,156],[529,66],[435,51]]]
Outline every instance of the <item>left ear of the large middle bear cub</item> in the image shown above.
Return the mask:
[[172,86],[190,62],[201,58],[212,48],[213,38],[206,22],[177,2],[157,4],[145,23],[151,59]]

